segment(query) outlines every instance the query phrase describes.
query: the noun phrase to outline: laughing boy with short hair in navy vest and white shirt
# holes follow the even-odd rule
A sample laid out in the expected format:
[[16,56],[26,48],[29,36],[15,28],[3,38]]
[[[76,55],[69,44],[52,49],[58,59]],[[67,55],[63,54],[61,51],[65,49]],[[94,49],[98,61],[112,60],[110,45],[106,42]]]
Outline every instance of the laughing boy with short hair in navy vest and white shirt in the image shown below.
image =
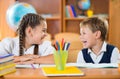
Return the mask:
[[108,23],[105,19],[92,17],[80,23],[80,39],[83,43],[77,63],[117,63],[119,50],[105,42]]

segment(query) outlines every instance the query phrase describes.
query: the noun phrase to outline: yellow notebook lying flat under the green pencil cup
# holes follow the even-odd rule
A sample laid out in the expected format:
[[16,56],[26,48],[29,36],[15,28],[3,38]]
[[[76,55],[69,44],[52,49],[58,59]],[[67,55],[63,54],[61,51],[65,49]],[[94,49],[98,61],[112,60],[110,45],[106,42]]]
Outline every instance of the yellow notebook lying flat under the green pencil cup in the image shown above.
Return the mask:
[[42,67],[45,76],[82,76],[84,72],[75,66],[68,66],[65,70],[56,70],[56,67]]

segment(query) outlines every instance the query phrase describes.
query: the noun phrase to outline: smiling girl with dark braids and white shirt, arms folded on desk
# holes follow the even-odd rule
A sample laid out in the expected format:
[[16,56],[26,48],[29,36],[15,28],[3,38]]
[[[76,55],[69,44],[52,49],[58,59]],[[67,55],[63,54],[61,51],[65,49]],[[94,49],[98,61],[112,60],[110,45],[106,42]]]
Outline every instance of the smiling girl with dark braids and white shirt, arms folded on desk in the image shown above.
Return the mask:
[[44,18],[29,13],[23,16],[17,31],[19,37],[0,42],[0,54],[14,54],[17,64],[53,63],[54,48],[49,41],[43,41],[47,35]]

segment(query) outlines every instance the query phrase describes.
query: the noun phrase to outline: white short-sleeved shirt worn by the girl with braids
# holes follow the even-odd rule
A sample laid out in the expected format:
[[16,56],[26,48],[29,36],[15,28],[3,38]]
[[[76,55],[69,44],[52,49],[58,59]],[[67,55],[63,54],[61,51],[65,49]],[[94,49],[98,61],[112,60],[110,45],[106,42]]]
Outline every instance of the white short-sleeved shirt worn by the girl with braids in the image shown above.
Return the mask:
[[[42,44],[39,45],[39,55],[46,56],[49,54],[53,54],[54,47],[52,47],[50,41],[44,41]],[[33,54],[34,45],[28,48],[27,50],[24,49],[24,54]],[[19,56],[19,38],[5,38],[0,42],[0,55],[12,53],[15,56]]]

